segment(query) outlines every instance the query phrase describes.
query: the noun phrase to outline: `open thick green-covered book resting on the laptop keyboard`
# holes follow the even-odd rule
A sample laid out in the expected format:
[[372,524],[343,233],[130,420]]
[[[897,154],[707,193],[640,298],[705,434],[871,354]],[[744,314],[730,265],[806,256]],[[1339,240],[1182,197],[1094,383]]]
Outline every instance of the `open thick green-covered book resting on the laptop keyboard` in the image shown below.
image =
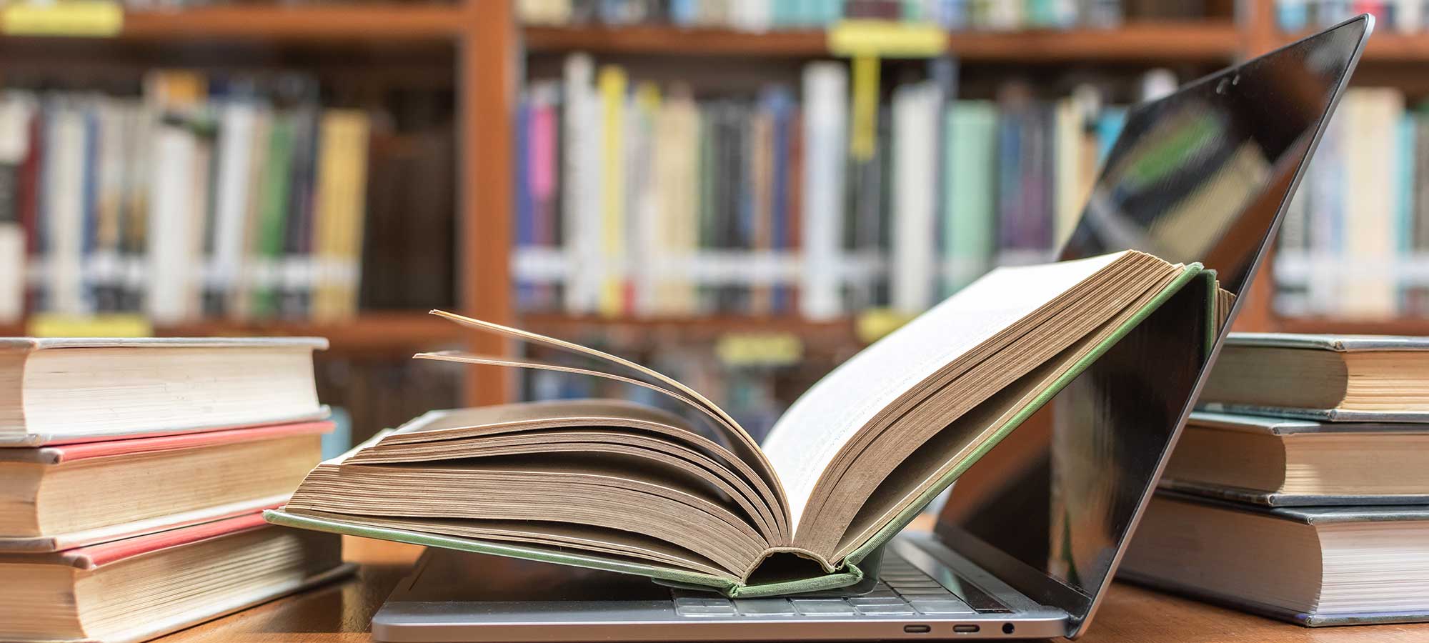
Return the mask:
[[1198,277],[1213,280],[1139,251],[995,270],[823,377],[763,444],[650,369],[434,311],[579,366],[420,359],[609,377],[683,413],[614,400],[427,413],[322,463],[269,520],[729,596],[857,584],[927,502]]

